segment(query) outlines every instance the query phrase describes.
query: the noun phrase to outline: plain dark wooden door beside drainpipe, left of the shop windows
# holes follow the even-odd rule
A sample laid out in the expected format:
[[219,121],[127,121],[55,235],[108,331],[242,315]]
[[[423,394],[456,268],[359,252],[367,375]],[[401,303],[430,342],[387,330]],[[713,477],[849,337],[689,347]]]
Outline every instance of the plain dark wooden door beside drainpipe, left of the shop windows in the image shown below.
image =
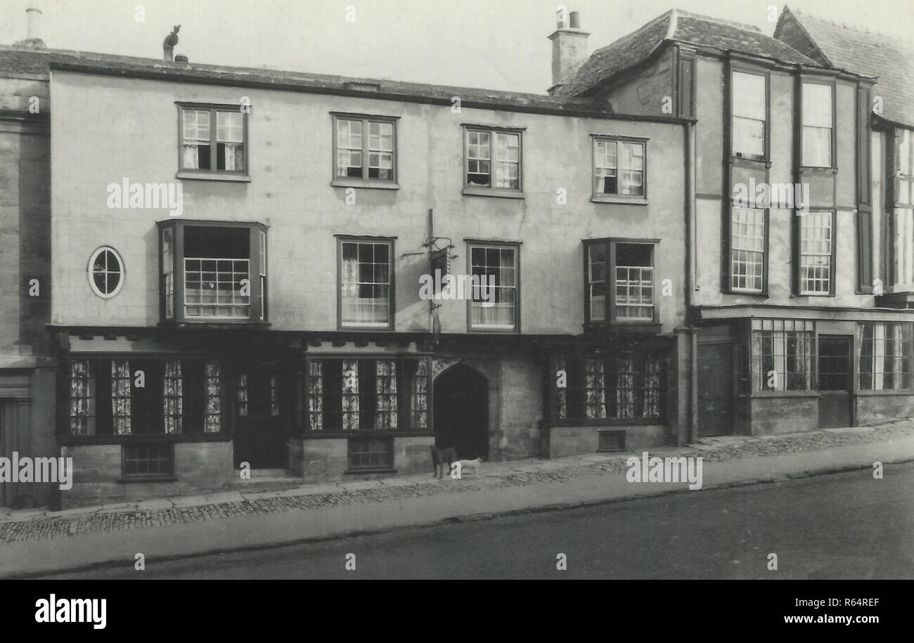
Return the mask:
[[698,436],[733,433],[733,353],[729,343],[698,344]]

